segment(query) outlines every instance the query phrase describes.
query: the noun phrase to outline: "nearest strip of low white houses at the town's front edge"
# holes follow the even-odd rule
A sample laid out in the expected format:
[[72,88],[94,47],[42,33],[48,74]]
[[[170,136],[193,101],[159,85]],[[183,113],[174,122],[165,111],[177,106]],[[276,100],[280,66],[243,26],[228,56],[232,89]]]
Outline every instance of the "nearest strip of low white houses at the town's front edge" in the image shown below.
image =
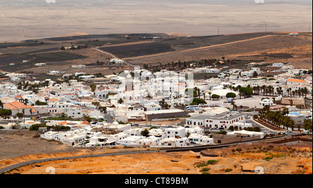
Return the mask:
[[[70,126],[66,132],[48,131],[41,135],[44,139],[54,139],[68,146],[150,146],[152,148],[186,147],[193,144],[214,144],[212,138],[204,135],[204,130],[198,126],[194,128],[141,128],[132,127],[130,124],[118,123],[49,123],[52,125]],[[117,130],[113,135],[104,134],[105,130]],[[143,130],[149,130],[149,135],[142,136]],[[186,136],[188,134],[188,136]]]

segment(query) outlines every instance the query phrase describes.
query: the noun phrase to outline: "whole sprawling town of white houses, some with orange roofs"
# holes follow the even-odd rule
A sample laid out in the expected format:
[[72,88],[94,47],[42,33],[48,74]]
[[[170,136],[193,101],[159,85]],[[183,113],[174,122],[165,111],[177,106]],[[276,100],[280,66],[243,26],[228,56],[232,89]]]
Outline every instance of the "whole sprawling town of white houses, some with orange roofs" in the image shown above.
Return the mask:
[[[122,60],[111,60],[123,63]],[[262,62],[263,63],[263,62]],[[312,96],[312,74],[308,70],[294,69],[291,65],[278,62],[271,65],[276,67],[275,76],[264,76],[264,71],[257,67],[262,63],[251,63],[248,69],[228,69],[223,67],[203,67],[185,69],[181,72],[161,71],[151,73],[145,69],[125,70],[120,74],[107,75],[106,78],[96,78],[94,75],[76,73],[73,78],[64,83],[53,80],[25,80],[26,74],[6,73],[11,80],[0,83],[0,100],[3,108],[12,111],[12,117],[22,113],[24,116],[51,116],[62,114],[70,119],[83,119],[89,116],[93,119],[102,119],[100,124],[75,124],[74,122],[58,122],[60,126],[70,126],[67,132],[49,131],[42,135],[46,139],[56,139],[69,146],[112,146],[138,145],[150,147],[182,147],[192,143],[212,144],[213,140],[203,133],[203,128],[228,129],[238,126],[243,129],[252,126],[246,123],[243,114],[232,111],[227,103],[227,94],[234,93],[231,101],[241,99],[238,90],[234,87],[262,87],[271,85],[275,100],[292,98],[298,89],[307,89],[305,95]],[[77,65],[76,68],[83,68]],[[193,72],[203,72],[216,76],[201,80],[188,79]],[[62,76],[61,71],[49,71],[49,74]],[[301,78],[296,78],[300,75]],[[70,75],[63,75],[63,78]],[[22,85],[21,89],[18,87]],[[24,89],[24,85],[40,85],[45,87]],[[93,82],[95,87],[90,86]],[[207,101],[207,105],[190,103],[188,88],[197,87],[200,98]],[[187,90],[186,90],[187,89]],[[280,90],[280,94],[276,91]],[[192,90],[192,89],[191,89]],[[275,93],[276,92],[276,93]],[[191,92],[193,96],[193,92]],[[219,99],[210,100],[214,94]],[[287,97],[288,96],[288,97]],[[264,105],[275,105],[273,96],[257,101],[256,108]],[[298,96],[298,98],[301,98]],[[302,99],[302,98],[301,98]],[[289,100],[290,101],[290,100]],[[294,102],[296,99],[294,99]],[[39,103],[38,103],[39,102]],[[249,101],[241,100],[242,105],[249,105]],[[183,110],[182,106],[186,106]],[[105,110],[104,108],[105,107]],[[178,108],[177,108],[178,107]],[[110,117],[110,118],[109,118]],[[120,125],[116,122],[142,121],[172,117],[186,118],[185,127],[154,128],[149,130],[149,137],[143,137],[141,131],[145,128],[132,128],[129,125]],[[109,122],[110,120],[110,122]],[[115,121],[112,123],[111,121]],[[54,121],[51,121],[54,122]],[[27,123],[26,123],[27,124]],[[74,125],[75,124],[75,125]],[[26,127],[31,125],[28,123]],[[25,125],[24,125],[25,126]],[[107,135],[102,130],[106,128],[120,131],[114,135]],[[190,134],[187,134],[190,133]],[[188,137],[186,137],[188,135]]]

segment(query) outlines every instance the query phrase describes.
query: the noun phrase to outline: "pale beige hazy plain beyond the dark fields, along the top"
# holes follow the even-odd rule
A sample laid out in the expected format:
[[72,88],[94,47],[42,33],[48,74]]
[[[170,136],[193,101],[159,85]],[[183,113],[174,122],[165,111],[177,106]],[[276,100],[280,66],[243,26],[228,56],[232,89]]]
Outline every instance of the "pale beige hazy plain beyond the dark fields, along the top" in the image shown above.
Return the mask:
[[[0,41],[67,33],[309,31],[312,1],[0,0]],[[311,30],[312,31],[312,30]]]

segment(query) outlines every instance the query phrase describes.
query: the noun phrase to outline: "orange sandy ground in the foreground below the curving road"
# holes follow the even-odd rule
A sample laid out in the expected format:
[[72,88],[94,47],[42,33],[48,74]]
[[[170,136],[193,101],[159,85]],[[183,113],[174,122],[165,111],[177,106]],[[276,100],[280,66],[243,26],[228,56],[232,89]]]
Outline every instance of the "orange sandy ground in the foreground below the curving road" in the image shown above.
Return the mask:
[[[241,148],[242,151],[238,151]],[[54,167],[56,174],[200,174],[204,168],[211,174],[256,174],[258,166],[266,174],[312,174],[312,147],[234,146],[214,150],[218,157],[204,157],[192,151],[179,153],[156,152],[150,154],[90,157],[77,160],[59,160],[24,166],[10,173],[46,173]],[[268,160],[264,160],[268,158]],[[216,164],[207,164],[217,160]],[[198,164],[202,164],[199,166]],[[204,165],[206,166],[204,166]],[[226,172],[225,169],[231,169]]]

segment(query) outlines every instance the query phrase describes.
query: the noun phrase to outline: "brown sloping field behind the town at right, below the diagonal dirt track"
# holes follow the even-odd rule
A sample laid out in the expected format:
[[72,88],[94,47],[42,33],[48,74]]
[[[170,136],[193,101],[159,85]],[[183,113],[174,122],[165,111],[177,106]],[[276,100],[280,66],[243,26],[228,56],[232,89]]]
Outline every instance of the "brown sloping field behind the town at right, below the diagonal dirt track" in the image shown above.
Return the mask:
[[[178,60],[226,59],[241,60],[284,60],[280,58],[264,58],[264,53],[290,53],[294,58],[289,62],[306,62],[312,64],[312,34],[307,37],[291,37],[289,35],[268,35],[255,37],[250,40],[241,40],[225,44],[216,44],[185,51],[174,51],[127,58],[135,64],[156,62],[177,62]],[[240,57],[240,58],[239,58]],[[246,58],[245,58],[246,57]],[[295,64],[297,65],[297,64]],[[312,65],[311,65],[312,67]]]

